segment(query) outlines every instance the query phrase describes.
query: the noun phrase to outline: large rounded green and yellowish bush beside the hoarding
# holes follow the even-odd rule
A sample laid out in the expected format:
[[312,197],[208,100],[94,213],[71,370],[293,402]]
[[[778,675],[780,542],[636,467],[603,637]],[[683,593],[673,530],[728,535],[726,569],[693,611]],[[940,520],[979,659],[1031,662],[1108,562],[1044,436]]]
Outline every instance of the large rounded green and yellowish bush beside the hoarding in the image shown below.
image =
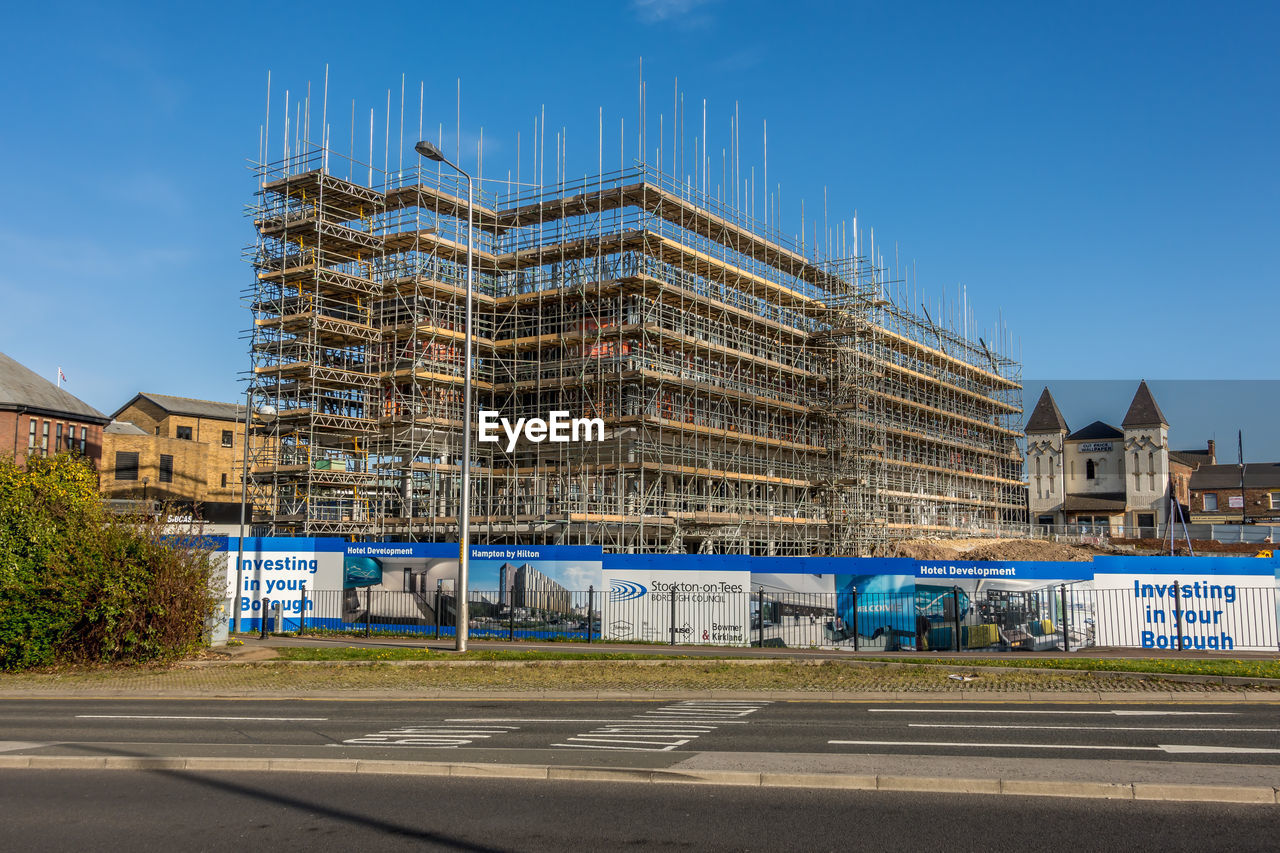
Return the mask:
[[0,670],[168,661],[204,643],[210,551],[109,512],[68,455],[0,457]]

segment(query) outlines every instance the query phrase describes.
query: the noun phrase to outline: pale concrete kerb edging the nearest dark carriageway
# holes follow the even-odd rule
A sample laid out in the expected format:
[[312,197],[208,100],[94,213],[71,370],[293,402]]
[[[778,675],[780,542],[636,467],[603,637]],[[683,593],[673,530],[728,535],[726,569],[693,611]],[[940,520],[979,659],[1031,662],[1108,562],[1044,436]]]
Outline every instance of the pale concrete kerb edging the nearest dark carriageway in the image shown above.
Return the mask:
[[750,772],[741,770],[646,770],[643,767],[558,767],[357,758],[168,758],[131,756],[0,756],[4,770],[134,770],[169,772],[324,772],[401,776],[541,779],[549,781],[824,788],[929,794],[1009,794],[1184,803],[1280,804],[1280,789],[1261,785],[1165,785],[1155,783],[952,779],[947,776],[865,776],[844,774]]

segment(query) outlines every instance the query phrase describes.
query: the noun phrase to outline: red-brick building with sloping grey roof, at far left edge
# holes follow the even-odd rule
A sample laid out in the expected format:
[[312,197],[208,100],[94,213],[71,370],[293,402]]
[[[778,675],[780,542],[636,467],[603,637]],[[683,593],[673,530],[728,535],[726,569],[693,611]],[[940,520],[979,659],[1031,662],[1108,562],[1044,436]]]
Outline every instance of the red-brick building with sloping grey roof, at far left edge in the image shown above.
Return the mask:
[[0,453],[19,462],[32,453],[72,451],[95,466],[110,420],[74,394],[0,352]]

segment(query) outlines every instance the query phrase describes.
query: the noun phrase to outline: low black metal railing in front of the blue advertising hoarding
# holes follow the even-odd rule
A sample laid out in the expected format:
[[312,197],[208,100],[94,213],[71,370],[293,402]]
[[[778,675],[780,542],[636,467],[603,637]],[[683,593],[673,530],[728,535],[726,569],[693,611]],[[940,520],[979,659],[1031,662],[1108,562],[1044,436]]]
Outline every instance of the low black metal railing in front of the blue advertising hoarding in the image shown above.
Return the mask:
[[[1089,583],[1038,589],[915,584],[899,592],[708,590],[614,583],[609,590],[468,594],[468,633],[509,640],[635,642],[851,651],[1183,651],[1280,648],[1275,587],[1203,581]],[[253,602],[247,629],[452,637],[456,598],[376,589],[302,589]],[[259,613],[268,613],[264,625]]]

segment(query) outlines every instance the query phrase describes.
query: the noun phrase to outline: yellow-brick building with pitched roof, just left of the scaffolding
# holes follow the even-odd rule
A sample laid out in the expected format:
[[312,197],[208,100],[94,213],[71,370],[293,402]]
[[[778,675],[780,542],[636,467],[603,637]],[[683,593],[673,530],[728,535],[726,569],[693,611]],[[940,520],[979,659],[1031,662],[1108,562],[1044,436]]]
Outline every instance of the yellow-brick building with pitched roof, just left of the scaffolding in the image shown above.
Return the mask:
[[104,435],[102,492],[172,503],[193,521],[239,521],[244,407],[138,393]]

